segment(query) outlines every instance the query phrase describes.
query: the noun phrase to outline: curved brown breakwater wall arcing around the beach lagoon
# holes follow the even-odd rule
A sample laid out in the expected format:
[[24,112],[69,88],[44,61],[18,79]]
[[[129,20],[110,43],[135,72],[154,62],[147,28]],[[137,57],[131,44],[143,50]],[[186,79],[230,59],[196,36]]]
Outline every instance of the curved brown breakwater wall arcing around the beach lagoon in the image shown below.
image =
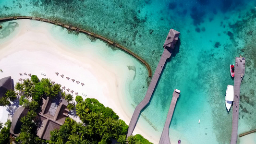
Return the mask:
[[97,35],[97,34],[94,34],[94,33],[91,33],[89,31],[86,31],[84,29],[80,29],[80,28],[77,28],[77,27],[74,27],[72,25],[67,25],[67,24],[62,24],[62,23],[59,23],[59,22],[56,22],[56,21],[52,21],[52,20],[49,20],[49,19],[44,19],[44,18],[40,18],[40,17],[32,17],[32,16],[13,16],[13,17],[4,17],[4,18],[0,18],[0,22],[6,22],[6,21],[12,21],[12,20],[18,20],[18,19],[28,19],[28,20],[36,20],[36,21],[41,21],[41,22],[46,22],[46,23],[50,23],[50,24],[55,24],[55,25],[59,25],[63,28],[66,28],[66,29],[69,29],[69,30],[73,30],[73,31],[76,31],[76,32],[80,32],[80,33],[84,33],[86,35],[89,35],[89,36],[93,36],[95,38],[98,38],[104,42],[107,42],[109,43],[110,45],[112,46],[115,46],[117,48],[120,48],[122,49],[123,51],[129,53],[130,55],[132,55],[135,59],[139,60],[140,62],[142,62],[145,66],[146,66],[146,69],[148,71],[148,77],[152,77],[152,71],[151,71],[151,68],[149,66],[149,64],[143,60],[141,57],[139,57],[138,55],[136,55],[134,52],[132,52],[131,50],[111,41],[110,39],[106,38],[106,37],[103,37],[103,36],[100,36],[100,35]]

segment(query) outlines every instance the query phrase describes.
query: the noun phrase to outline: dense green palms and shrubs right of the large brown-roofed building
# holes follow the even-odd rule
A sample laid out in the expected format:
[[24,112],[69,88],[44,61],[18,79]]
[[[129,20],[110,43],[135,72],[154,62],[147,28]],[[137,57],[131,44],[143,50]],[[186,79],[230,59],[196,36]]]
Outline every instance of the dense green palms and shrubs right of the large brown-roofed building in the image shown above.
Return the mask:
[[[68,96],[69,97],[69,96]],[[68,98],[66,98],[68,99]],[[76,96],[76,114],[81,122],[66,118],[59,130],[50,132],[49,144],[111,144],[111,139],[126,144],[128,125],[111,109],[94,98]],[[141,135],[130,136],[128,144],[152,144]]]

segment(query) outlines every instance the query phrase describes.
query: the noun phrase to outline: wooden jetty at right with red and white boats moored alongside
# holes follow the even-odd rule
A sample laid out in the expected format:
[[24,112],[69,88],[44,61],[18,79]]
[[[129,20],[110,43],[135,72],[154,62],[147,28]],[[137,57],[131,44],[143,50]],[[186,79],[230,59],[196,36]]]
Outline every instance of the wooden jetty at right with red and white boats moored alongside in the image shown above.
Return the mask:
[[239,100],[240,100],[240,85],[245,72],[245,58],[235,58],[235,78],[234,78],[234,101],[232,115],[232,134],[230,144],[236,144],[237,129],[239,119]]

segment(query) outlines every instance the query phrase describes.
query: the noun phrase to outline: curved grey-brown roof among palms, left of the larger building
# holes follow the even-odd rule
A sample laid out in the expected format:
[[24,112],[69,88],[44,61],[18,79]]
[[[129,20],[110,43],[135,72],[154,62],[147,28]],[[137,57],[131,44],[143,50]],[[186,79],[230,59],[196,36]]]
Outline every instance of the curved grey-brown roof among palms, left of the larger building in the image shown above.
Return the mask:
[[15,136],[18,136],[21,132],[21,126],[22,122],[20,121],[22,117],[24,117],[28,112],[28,109],[24,107],[18,108],[13,117],[12,117],[12,125],[10,128],[10,133],[12,133]]

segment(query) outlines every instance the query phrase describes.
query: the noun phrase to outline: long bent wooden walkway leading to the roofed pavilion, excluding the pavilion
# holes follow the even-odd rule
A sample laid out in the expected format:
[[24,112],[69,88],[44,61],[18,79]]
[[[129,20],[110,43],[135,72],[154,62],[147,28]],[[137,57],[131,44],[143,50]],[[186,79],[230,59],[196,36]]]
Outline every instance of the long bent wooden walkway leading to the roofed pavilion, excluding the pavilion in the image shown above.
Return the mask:
[[165,65],[165,62],[168,58],[171,57],[171,52],[172,52],[172,49],[171,48],[165,48],[164,49],[164,52],[161,56],[161,59],[158,63],[158,67],[156,69],[156,72],[154,73],[153,75],[153,78],[148,86],[148,89],[147,89],[147,92],[146,92],[146,96],[144,97],[144,99],[140,102],[140,104],[135,108],[134,110],[134,114],[133,114],[133,117],[130,121],[130,124],[129,124],[129,128],[128,128],[128,133],[127,133],[127,137],[132,135],[133,131],[134,131],[134,128],[136,126],[136,123],[137,123],[137,120],[139,118],[139,115],[140,115],[140,112],[141,110],[148,104],[153,92],[154,92],[154,89],[157,85],[157,82],[158,82],[158,79],[160,77],[160,74],[163,70],[163,67]]

